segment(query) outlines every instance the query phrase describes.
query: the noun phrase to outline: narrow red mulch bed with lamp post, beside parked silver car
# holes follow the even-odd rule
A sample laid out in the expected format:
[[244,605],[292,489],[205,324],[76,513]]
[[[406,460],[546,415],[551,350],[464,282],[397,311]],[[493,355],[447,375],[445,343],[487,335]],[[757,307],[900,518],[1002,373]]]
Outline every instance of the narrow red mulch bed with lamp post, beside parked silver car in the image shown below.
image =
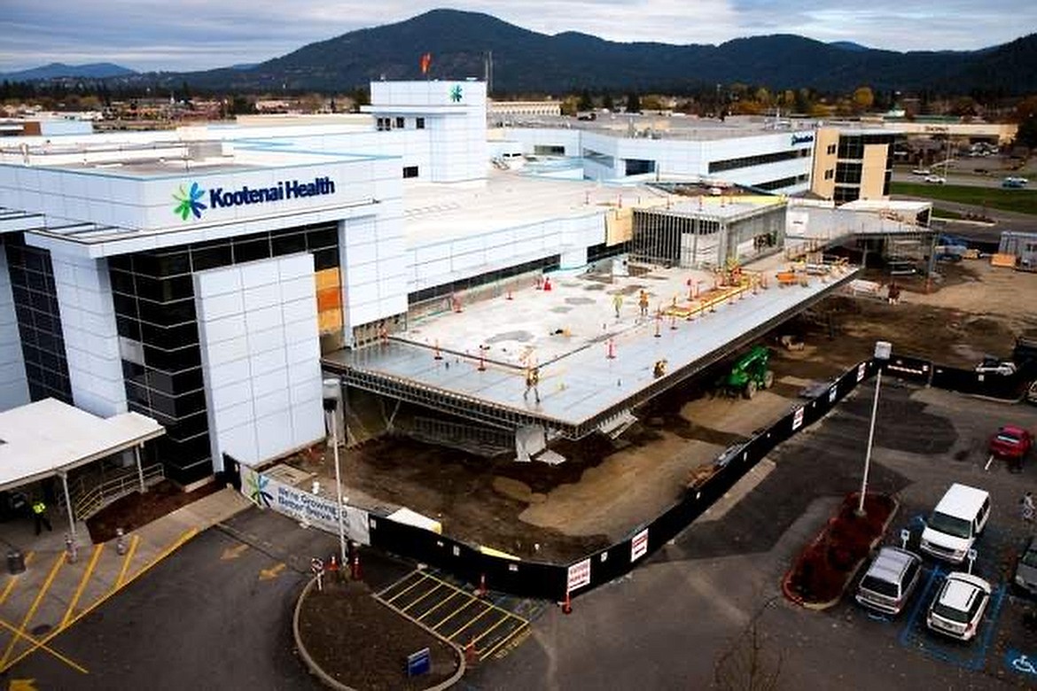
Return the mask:
[[887,522],[897,509],[893,497],[867,494],[864,516],[857,515],[860,494],[843,499],[835,517],[800,553],[782,583],[785,596],[805,605],[837,601],[857,573],[861,562],[882,537]]

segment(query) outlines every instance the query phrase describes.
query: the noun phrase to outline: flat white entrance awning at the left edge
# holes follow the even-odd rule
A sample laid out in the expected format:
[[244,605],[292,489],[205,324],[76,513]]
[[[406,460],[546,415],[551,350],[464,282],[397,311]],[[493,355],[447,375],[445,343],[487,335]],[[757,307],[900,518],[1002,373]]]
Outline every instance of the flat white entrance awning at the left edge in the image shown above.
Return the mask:
[[0,412],[0,490],[43,480],[162,436],[137,412],[99,418],[53,398]]

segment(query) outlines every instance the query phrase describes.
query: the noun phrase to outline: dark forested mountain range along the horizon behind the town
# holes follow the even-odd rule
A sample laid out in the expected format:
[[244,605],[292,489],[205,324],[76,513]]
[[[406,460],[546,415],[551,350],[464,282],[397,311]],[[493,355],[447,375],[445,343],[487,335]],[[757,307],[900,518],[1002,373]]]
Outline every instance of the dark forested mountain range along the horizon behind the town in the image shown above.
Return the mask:
[[[923,35],[920,28],[920,41]],[[159,87],[187,82],[215,91],[341,92],[380,79],[424,79],[419,67],[424,53],[432,56],[429,79],[482,78],[491,52],[496,94],[561,94],[585,88],[683,92],[735,82],[772,90],[810,87],[843,93],[861,85],[954,94],[1037,91],[1037,33],[979,51],[907,53],[788,34],[719,46],[623,44],[571,31],[546,35],[489,15],[453,9],[351,31],[256,65],[131,74],[110,81]]]

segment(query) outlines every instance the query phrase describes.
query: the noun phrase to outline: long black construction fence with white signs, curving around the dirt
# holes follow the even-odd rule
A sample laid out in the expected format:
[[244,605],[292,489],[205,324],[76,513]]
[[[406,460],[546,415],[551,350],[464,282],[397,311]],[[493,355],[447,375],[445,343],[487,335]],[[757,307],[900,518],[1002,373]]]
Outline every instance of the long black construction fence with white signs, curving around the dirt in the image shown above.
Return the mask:
[[371,546],[442,569],[471,583],[485,578],[489,589],[510,595],[562,601],[583,595],[622,576],[675,538],[734,486],[775,447],[823,418],[858,384],[881,367],[887,376],[925,385],[998,399],[1014,399],[1025,386],[1025,373],[980,375],[893,354],[886,363],[862,362],[838,378],[812,391],[810,398],[748,441],[728,448],[713,461],[716,470],[686,489],[683,497],[650,523],[632,530],[621,542],[572,564],[559,565],[508,558],[438,535],[427,528],[371,514]]

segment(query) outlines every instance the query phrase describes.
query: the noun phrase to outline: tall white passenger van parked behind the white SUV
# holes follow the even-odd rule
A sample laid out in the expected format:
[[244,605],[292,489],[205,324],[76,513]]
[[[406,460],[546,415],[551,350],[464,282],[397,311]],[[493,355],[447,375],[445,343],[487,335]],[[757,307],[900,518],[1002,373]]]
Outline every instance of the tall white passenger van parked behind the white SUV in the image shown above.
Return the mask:
[[932,510],[919,547],[937,558],[960,564],[989,517],[990,494],[955,483]]

